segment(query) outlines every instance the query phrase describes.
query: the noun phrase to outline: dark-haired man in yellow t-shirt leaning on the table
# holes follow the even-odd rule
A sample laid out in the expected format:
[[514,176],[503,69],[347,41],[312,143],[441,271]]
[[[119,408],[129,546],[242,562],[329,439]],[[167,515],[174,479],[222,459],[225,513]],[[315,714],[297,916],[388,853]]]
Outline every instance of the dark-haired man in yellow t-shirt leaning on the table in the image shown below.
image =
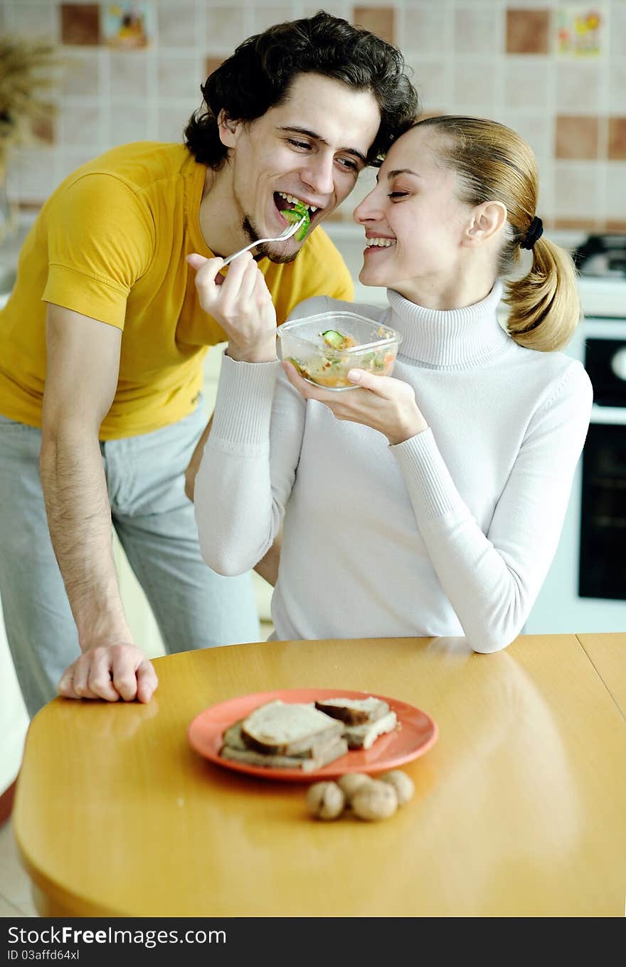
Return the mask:
[[115,148],[54,191],[0,315],[0,597],[31,715],[57,683],[109,701],[157,687],[111,523],[168,652],[257,639],[249,575],[207,569],[184,492],[202,361],[225,338],[185,259],[277,237],[299,199],[304,241],[256,250],[278,322],[315,294],[351,298],[317,226],[417,106],[399,52],[324,13],[250,38],[202,93],[185,145]]

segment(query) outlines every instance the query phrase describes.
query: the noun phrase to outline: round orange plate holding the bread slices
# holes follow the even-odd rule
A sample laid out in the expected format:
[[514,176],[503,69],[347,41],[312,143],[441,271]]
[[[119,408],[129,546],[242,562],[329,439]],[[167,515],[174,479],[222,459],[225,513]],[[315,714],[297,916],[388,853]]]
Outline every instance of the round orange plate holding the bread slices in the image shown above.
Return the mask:
[[314,702],[322,698],[367,698],[368,692],[347,691],[346,689],[280,689],[278,691],[258,691],[252,695],[238,695],[226,702],[212,705],[196,716],[189,725],[187,738],[192,748],[200,752],[217,766],[233,769],[237,773],[247,773],[267,779],[287,779],[292,782],[309,782],[311,779],[344,776],[346,773],[381,773],[394,769],[405,762],[423,755],[437,740],[437,723],[425,712],[413,705],[400,702],[385,695],[382,698],[393,709],[402,728],[388,732],[376,740],[371,748],[355,749],[335,759],[323,769],[312,773],[302,773],[299,769],[270,769],[266,766],[251,766],[245,762],[222,759],[219,749],[222,734],[229,725],[245,718],[259,705],[275,698],[283,702]]

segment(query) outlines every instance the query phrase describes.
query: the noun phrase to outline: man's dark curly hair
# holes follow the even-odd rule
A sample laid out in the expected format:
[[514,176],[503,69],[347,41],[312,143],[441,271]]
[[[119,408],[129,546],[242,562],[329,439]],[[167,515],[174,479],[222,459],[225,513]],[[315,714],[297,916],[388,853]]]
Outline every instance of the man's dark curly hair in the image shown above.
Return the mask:
[[391,143],[411,127],[418,98],[396,47],[347,20],[320,11],[278,23],[240,44],[201,86],[204,103],[185,128],[185,144],[196,161],[217,170],[228,148],[217,118],[254,121],[283,103],[300,73],[319,73],[356,91],[370,91],[381,109],[381,127],[368,164],[379,165]]

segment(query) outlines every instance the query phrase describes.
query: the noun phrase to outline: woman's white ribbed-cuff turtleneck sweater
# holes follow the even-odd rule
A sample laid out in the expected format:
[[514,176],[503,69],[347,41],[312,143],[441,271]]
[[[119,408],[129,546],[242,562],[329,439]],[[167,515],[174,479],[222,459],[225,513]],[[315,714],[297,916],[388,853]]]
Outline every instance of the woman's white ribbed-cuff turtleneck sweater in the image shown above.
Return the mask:
[[291,318],[351,309],[403,335],[393,376],[428,429],[389,446],[306,402],[278,363],[224,357],[195,484],[207,564],[252,568],[284,518],[275,636],[463,635],[477,652],[524,625],[555,554],[589,423],[591,385],[562,353],[498,324],[502,286],[437,311],[328,298]]

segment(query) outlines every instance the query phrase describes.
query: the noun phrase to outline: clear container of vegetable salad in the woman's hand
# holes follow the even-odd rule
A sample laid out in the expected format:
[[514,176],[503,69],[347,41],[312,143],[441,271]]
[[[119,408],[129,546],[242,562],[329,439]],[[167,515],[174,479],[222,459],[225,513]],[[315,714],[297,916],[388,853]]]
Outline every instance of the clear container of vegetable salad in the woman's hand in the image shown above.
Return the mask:
[[390,376],[401,341],[400,333],[358,312],[320,312],[278,327],[280,358],[308,383],[337,392],[357,389],[348,379],[353,367]]

